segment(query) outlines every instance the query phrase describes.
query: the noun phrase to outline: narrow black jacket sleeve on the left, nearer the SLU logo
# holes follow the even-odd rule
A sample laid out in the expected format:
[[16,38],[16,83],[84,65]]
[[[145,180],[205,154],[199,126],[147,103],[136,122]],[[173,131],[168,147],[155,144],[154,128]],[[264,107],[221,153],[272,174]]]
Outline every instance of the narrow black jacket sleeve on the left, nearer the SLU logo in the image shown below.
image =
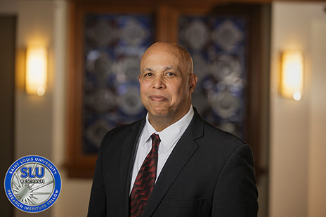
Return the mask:
[[96,169],[93,177],[93,185],[91,188],[91,197],[89,200],[89,217],[92,216],[106,216],[106,191],[103,181],[103,168],[102,168],[102,149],[103,143],[105,142],[105,136],[100,145],[100,150],[98,152],[98,159],[96,160]]

